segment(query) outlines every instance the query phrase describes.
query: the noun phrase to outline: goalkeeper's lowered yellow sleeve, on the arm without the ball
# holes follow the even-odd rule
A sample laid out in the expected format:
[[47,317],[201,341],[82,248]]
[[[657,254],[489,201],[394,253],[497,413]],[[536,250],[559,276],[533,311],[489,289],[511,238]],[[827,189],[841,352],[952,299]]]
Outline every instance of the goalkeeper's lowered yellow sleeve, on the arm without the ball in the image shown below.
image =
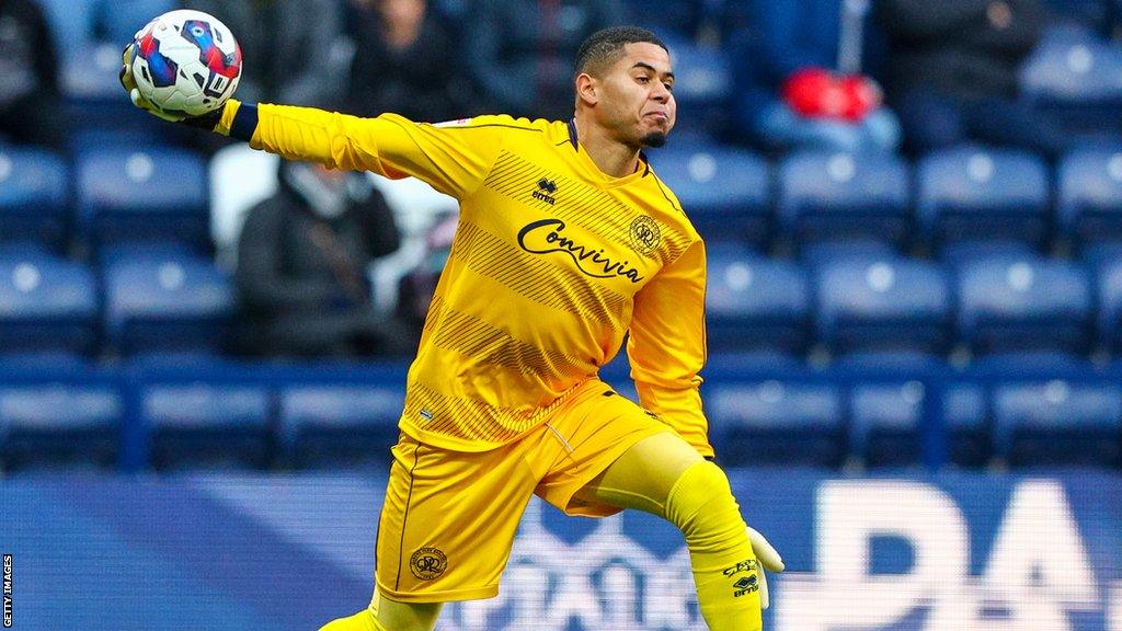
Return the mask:
[[698,373],[705,364],[705,246],[695,243],[635,296],[627,355],[640,402],[712,456]]

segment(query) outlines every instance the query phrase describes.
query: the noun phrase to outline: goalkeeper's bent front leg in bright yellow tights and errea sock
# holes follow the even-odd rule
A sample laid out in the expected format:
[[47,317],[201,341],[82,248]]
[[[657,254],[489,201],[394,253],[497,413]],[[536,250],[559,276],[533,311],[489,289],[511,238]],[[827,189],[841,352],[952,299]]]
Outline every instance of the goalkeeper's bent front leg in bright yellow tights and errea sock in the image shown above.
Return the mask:
[[678,435],[635,443],[577,499],[638,509],[677,525],[709,629],[762,629],[758,565],[728,478]]

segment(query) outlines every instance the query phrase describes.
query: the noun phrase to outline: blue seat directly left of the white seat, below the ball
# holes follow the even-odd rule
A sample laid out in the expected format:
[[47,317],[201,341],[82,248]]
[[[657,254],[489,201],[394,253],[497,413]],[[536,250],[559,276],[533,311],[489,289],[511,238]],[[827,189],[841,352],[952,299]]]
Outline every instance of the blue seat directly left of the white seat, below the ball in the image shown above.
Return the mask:
[[180,149],[110,148],[75,157],[80,229],[94,248],[175,240],[210,247],[205,162]]

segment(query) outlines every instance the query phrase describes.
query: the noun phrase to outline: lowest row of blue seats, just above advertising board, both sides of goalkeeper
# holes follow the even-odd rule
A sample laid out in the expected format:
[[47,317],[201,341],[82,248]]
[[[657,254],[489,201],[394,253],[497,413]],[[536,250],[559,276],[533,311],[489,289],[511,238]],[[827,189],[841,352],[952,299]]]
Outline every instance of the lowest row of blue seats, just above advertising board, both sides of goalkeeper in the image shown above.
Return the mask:
[[[9,468],[386,466],[404,369],[9,365],[0,458]],[[728,465],[1122,466],[1118,371],[812,372],[718,356],[707,374],[710,438]],[[633,395],[618,373],[610,381]]]

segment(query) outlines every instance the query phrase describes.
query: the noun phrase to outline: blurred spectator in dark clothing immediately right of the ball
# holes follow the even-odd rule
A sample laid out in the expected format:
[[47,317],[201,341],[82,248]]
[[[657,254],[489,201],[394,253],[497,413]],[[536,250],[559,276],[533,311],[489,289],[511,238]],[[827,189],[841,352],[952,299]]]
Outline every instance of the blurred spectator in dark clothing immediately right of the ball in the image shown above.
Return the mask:
[[185,0],[230,27],[245,72],[238,98],[339,109],[350,52],[342,0]]

